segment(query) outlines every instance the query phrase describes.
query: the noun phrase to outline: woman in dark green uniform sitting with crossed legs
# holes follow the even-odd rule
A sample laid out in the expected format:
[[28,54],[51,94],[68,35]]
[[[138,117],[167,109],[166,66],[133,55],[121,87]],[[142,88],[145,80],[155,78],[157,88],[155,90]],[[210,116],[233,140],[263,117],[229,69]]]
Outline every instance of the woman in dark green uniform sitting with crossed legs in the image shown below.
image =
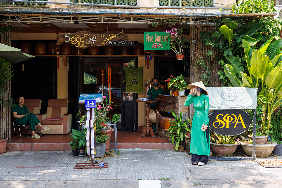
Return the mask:
[[25,98],[23,96],[20,96],[18,98],[18,104],[14,106],[13,109],[13,116],[15,118],[16,123],[19,125],[26,125],[29,124],[32,130],[32,138],[40,138],[38,134],[35,134],[35,125],[38,125],[42,130],[41,132],[44,132],[46,130],[49,130],[50,128],[44,127],[40,124],[40,121],[37,119],[37,117],[28,112],[27,107],[23,105],[25,103]]

